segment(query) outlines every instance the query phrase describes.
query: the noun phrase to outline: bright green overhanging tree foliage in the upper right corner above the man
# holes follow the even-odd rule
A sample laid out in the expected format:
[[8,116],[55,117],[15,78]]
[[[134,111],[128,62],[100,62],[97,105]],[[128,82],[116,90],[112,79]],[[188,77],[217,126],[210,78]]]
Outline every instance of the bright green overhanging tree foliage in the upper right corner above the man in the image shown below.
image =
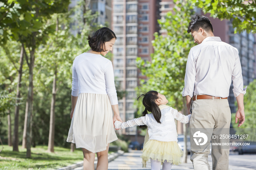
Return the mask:
[[234,33],[246,30],[256,33],[256,1],[248,0],[192,0],[204,13],[219,19],[233,19]]

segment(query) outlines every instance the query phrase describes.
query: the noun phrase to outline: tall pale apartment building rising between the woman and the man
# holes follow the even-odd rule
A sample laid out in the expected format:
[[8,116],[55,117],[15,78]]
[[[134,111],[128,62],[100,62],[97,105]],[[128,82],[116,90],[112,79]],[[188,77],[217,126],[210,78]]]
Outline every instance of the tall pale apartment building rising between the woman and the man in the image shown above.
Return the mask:
[[[136,98],[135,88],[138,78],[143,77],[136,67],[136,58],[150,60],[153,53],[151,41],[154,32],[159,31],[158,0],[113,0],[112,30],[117,36],[113,48],[113,66],[116,84],[127,91],[127,95],[118,101],[123,121],[133,119]],[[123,134],[135,134],[136,127],[123,130]]]

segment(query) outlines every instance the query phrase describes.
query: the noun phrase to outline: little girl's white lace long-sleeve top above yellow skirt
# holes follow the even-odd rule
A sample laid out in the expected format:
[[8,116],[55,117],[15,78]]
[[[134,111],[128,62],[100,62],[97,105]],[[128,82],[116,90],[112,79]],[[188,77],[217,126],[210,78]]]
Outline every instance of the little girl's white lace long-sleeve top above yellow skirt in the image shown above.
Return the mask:
[[[161,109],[161,107],[160,107]],[[135,125],[147,125],[148,127],[148,140],[158,140],[162,142],[171,142],[177,140],[177,130],[174,119],[179,120],[181,123],[189,123],[191,115],[185,116],[179,113],[176,109],[172,107],[165,107],[161,109],[161,124],[158,123],[153,114],[147,114],[139,118],[128,120],[124,123],[120,121],[115,121],[115,128],[127,128],[133,127]]]

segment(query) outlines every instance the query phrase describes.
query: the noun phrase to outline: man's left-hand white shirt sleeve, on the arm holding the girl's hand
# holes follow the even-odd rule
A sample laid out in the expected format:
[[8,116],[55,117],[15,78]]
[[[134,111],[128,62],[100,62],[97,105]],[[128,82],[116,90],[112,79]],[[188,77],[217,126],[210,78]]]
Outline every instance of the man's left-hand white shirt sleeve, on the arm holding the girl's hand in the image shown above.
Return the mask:
[[182,91],[182,96],[193,97],[193,93],[195,90],[195,81],[196,81],[196,61],[193,56],[193,51],[190,50],[188,54],[188,60],[186,65],[186,73],[185,73],[185,87]]

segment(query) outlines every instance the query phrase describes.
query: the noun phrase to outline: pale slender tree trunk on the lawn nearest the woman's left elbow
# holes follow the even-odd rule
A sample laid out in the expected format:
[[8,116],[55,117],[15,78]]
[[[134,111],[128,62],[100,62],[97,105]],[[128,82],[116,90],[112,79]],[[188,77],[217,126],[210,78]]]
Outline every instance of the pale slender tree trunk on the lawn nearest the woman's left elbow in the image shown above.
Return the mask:
[[54,127],[55,127],[55,113],[54,106],[56,101],[56,79],[57,79],[57,69],[55,69],[52,85],[52,102],[50,110],[50,130],[49,130],[49,140],[48,140],[48,151],[54,152]]

